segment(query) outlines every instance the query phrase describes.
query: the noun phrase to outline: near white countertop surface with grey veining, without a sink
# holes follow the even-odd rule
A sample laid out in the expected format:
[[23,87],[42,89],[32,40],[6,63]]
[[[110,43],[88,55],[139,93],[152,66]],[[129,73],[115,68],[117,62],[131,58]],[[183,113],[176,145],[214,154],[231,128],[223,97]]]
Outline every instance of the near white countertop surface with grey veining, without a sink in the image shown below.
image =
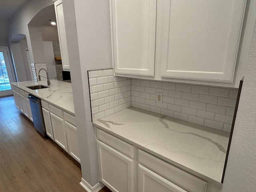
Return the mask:
[[134,107],[93,124],[200,178],[221,184],[227,132]]

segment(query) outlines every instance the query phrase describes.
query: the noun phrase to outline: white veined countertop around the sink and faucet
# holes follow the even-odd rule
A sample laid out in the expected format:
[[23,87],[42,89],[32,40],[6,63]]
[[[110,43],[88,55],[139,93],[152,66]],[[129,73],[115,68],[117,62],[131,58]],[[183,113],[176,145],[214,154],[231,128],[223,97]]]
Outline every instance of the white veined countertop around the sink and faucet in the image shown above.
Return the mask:
[[[49,104],[52,104],[62,110],[68,112],[69,114],[75,115],[74,101],[71,83],[50,80],[51,84],[47,85],[46,80],[42,81],[22,81],[22,82],[12,82],[11,84],[30,93]],[[33,85],[44,85],[48,88],[32,90],[27,88],[27,86]]]

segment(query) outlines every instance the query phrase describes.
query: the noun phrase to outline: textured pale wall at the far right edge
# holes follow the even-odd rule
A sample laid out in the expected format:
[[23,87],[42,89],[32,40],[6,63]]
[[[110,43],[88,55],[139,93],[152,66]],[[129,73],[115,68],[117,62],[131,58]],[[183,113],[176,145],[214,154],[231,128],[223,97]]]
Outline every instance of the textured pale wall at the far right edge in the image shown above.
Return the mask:
[[255,137],[256,25],[254,26],[222,192],[256,191]]

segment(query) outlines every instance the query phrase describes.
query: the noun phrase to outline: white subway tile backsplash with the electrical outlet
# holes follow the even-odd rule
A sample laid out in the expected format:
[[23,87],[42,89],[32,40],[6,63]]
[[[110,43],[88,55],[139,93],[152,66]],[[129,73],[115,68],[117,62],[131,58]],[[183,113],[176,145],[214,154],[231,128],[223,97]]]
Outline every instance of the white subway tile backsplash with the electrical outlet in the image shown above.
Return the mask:
[[[237,89],[131,80],[131,105],[188,122],[230,132]],[[156,92],[163,94],[156,102]]]

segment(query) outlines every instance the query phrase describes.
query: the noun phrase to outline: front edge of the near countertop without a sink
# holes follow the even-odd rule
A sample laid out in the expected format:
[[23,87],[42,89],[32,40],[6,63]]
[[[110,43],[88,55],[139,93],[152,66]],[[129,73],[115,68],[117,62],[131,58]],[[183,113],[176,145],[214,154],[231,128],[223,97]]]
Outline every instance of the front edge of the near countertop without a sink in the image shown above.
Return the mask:
[[154,152],[154,151],[152,151],[152,150],[150,150],[148,148],[145,148],[144,146],[141,146],[138,143],[135,143],[135,142],[133,142],[133,141],[127,139],[127,138],[124,138],[124,137],[120,136],[119,134],[116,134],[116,133],[112,132],[111,130],[108,130],[108,129],[106,129],[106,128],[98,125],[98,124],[95,124],[94,122],[92,122],[92,125],[95,126],[96,128],[99,128],[99,129],[101,129],[101,130],[111,134],[112,136],[115,136],[115,137],[117,137],[117,138],[119,138],[121,140],[124,140],[128,144],[134,145],[134,146],[136,146],[136,147],[138,147],[138,148],[140,148],[140,149],[142,149],[142,150],[144,150],[144,151],[146,151],[146,152],[156,156],[157,158],[160,158],[160,159],[162,159],[162,160],[164,160],[164,161],[166,161],[166,162],[168,162],[168,163],[170,163],[170,164],[172,164],[172,165],[174,165],[174,166],[176,166],[176,167],[178,167],[178,168],[180,168],[180,169],[182,169],[182,170],[184,170],[184,171],[186,171],[186,172],[188,172],[190,174],[193,174],[193,175],[195,175],[195,176],[197,176],[197,177],[199,177],[199,178],[201,178],[203,180],[206,180],[207,182],[211,182],[212,184],[216,184],[218,187],[222,187],[222,183],[221,182],[218,182],[218,181],[216,181],[216,180],[214,180],[214,179],[212,179],[212,178],[210,178],[208,176],[205,176],[204,174],[196,172],[195,170],[192,170],[192,169],[190,169],[190,168],[188,168],[188,167],[186,167],[186,166],[184,166],[182,164],[179,164],[178,162],[175,162],[175,161],[173,161],[173,160],[171,160],[169,158],[166,158],[165,156],[162,156],[162,155],[160,155],[160,154],[158,154],[158,153],[156,153],[156,152]]

